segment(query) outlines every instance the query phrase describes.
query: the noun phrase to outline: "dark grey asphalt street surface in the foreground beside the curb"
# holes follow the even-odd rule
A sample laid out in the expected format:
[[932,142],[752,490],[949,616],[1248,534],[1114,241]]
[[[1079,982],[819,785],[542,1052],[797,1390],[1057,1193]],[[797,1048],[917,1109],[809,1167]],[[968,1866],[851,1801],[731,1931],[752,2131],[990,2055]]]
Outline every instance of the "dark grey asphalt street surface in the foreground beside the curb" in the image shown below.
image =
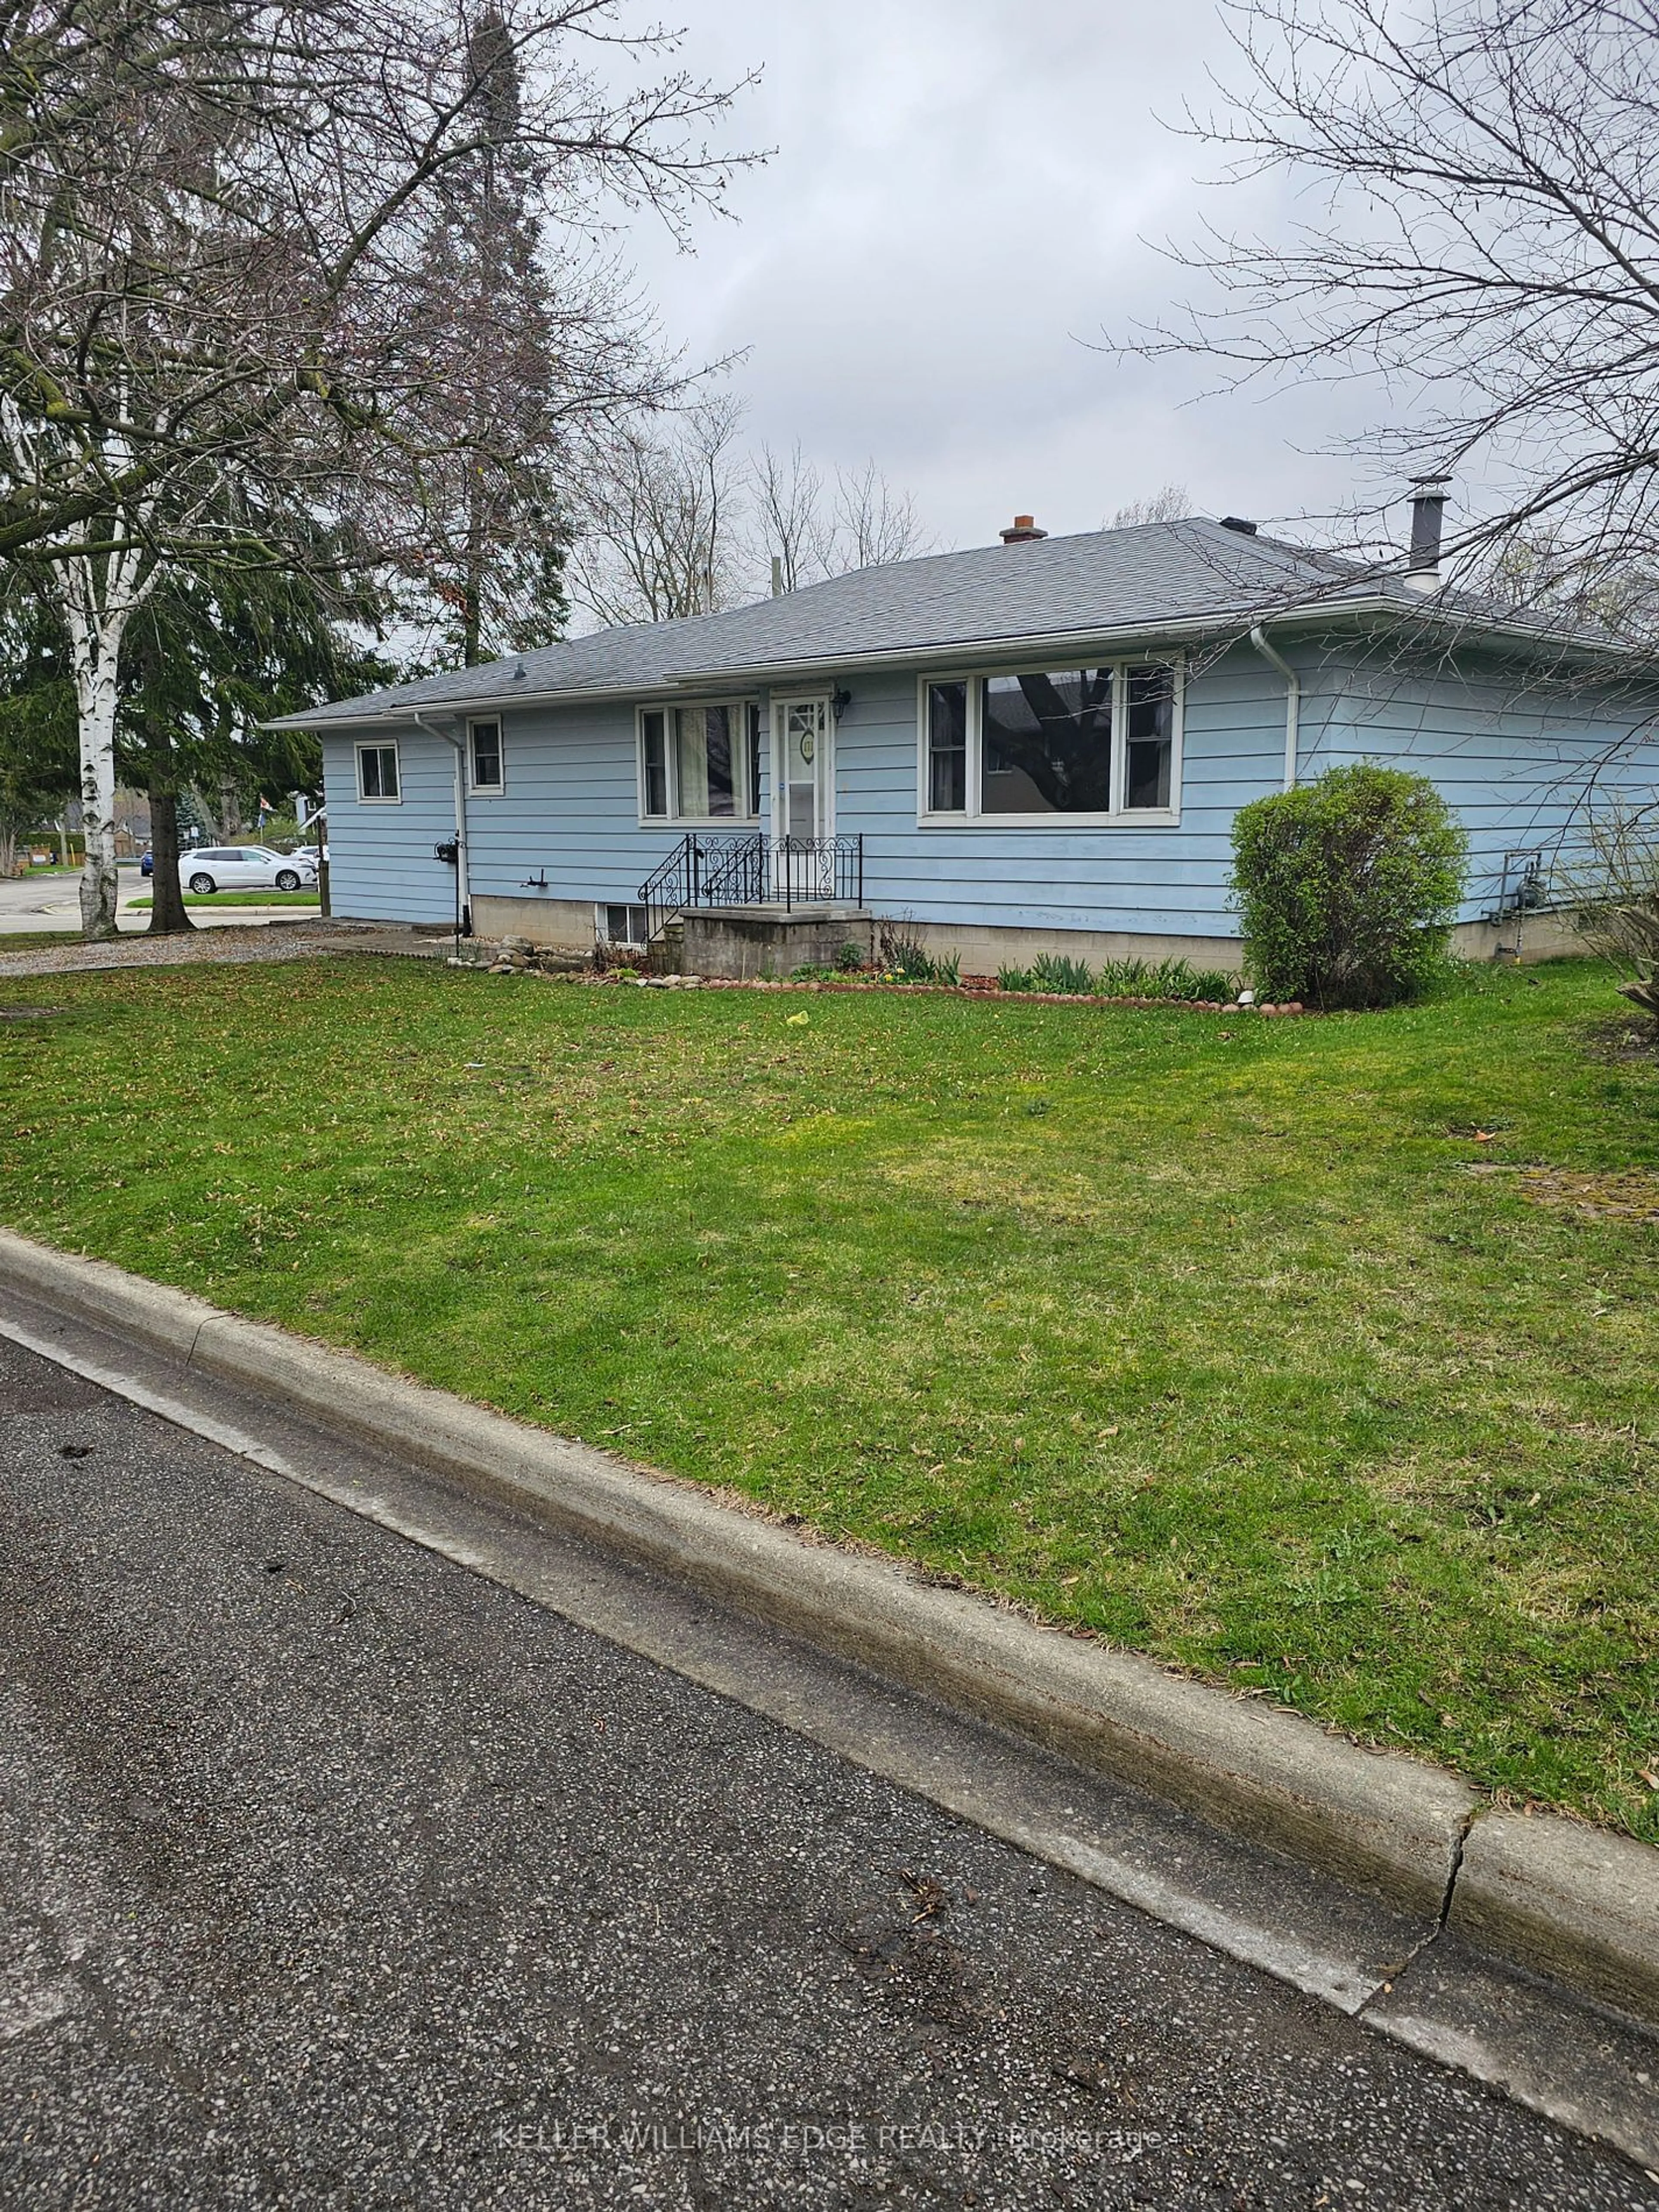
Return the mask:
[[7,2205],[1655,2208],[0,1340]]

